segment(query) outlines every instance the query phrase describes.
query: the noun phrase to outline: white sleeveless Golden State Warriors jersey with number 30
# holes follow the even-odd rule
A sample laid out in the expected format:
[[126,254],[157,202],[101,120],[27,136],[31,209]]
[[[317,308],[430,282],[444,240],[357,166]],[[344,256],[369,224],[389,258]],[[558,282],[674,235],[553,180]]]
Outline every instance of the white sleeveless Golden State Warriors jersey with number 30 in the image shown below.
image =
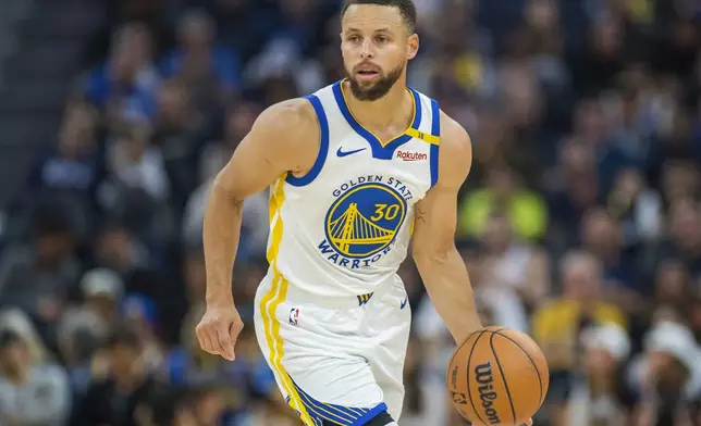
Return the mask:
[[407,255],[415,204],[438,179],[440,110],[415,90],[411,126],[380,141],[349,111],[341,82],[308,96],[321,129],[316,163],[271,188],[268,261],[290,285],[360,299]]

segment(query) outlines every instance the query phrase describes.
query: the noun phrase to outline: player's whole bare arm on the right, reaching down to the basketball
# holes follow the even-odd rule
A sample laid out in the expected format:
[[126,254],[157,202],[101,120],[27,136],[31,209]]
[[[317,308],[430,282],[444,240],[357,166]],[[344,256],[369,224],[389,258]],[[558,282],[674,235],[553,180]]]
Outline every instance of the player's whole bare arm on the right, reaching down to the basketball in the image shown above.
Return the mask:
[[472,155],[469,136],[457,123],[443,116],[441,126],[439,179],[417,203],[413,256],[436,312],[459,343],[481,327],[469,276],[455,248],[457,195]]

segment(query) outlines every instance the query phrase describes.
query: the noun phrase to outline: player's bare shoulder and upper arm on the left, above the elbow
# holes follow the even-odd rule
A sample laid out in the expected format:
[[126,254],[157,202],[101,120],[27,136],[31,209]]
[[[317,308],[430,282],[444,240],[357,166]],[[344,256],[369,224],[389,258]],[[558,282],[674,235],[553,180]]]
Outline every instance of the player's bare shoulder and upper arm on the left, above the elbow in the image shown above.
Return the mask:
[[263,111],[241,141],[214,187],[237,200],[257,193],[285,173],[311,168],[320,130],[311,103],[292,99]]

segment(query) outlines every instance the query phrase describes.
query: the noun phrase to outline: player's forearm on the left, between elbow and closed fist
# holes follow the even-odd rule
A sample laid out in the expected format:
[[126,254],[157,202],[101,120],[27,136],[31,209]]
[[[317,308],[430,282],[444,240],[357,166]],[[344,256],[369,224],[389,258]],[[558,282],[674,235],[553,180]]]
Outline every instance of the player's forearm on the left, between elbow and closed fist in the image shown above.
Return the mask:
[[208,304],[233,303],[232,270],[243,217],[244,200],[217,184],[207,201],[204,223]]

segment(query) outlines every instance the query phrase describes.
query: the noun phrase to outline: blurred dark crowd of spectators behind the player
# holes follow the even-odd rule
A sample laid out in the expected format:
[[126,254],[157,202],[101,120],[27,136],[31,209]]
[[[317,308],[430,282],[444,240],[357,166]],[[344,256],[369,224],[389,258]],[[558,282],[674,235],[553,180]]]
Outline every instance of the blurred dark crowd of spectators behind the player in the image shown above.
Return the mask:
[[[701,425],[701,2],[415,0],[409,85],[472,137],[457,242],[551,367],[539,426]],[[286,426],[254,336],[202,353],[201,221],[268,105],[343,76],[341,0],[0,0],[0,425]],[[402,426],[463,426],[414,265]]]

